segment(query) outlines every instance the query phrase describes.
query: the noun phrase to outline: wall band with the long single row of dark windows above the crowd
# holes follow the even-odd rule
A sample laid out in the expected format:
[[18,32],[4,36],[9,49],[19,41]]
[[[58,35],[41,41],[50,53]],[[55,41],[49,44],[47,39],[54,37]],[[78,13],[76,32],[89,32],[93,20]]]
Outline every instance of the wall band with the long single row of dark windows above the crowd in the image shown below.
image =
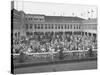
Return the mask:
[[80,23],[34,23],[26,24],[29,31],[81,31]]

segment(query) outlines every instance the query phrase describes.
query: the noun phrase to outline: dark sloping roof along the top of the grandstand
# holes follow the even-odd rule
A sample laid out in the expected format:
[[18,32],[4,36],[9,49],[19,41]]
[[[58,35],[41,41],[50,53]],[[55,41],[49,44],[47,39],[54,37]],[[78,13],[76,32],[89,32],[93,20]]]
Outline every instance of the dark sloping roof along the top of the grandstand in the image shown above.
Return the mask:
[[[14,9],[15,12],[24,13],[23,11],[17,11]],[[25,13],[24,13],[25,14]],[[44,16],[45,22],[54,22],[54,23],[66,23],[66,22],[81,22],[85,19],[80,17],[73,17],[73,16],[47,16],[44,14],[26,14],[26,16]]]

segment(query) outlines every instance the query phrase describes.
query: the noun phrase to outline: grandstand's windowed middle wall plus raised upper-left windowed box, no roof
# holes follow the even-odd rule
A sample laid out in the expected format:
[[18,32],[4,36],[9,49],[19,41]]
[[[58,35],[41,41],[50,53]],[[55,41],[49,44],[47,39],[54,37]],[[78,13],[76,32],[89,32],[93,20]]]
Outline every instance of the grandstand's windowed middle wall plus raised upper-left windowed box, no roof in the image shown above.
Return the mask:
[[[34,17],[37,17],[37,21]],[[42,21],[40,20],[42,19]],[[27,31],[31,32],[59,32],[59,31],[82,31],[81,21],[66,21],[66,22],[47,22],[45,16],[26,15],[25,27]]]

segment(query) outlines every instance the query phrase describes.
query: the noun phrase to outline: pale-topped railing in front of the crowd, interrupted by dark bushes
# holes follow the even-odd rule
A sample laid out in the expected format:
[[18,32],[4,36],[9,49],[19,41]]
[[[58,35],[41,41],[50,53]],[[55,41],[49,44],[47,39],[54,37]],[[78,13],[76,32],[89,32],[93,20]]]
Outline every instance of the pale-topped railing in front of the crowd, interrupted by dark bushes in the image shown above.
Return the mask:
[[[97,50],[92,50],[93,56],[97,56]],[[20,54],[13,54],[14,57],[19,56]],[[26,53],[31,60],[59,60],[59,52],[45,52],[45,53]],[[89,52],[88,50],[73,50],[73,51],[64,51],[63,52],[64,59],[72,60],[72,59],[82,59],[88,58]]]

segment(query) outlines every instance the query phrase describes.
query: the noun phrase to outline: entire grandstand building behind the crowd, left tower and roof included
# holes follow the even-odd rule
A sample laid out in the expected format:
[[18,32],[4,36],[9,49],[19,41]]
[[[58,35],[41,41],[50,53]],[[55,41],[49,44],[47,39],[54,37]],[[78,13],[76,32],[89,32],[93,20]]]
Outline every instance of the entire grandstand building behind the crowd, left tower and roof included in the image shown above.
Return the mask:
[[26,36],[27,33],[64,32],[68,34],[96,35],[97,19],[83,19],[72,16],[46,16],[25,14],[12,9],[13,36]]

